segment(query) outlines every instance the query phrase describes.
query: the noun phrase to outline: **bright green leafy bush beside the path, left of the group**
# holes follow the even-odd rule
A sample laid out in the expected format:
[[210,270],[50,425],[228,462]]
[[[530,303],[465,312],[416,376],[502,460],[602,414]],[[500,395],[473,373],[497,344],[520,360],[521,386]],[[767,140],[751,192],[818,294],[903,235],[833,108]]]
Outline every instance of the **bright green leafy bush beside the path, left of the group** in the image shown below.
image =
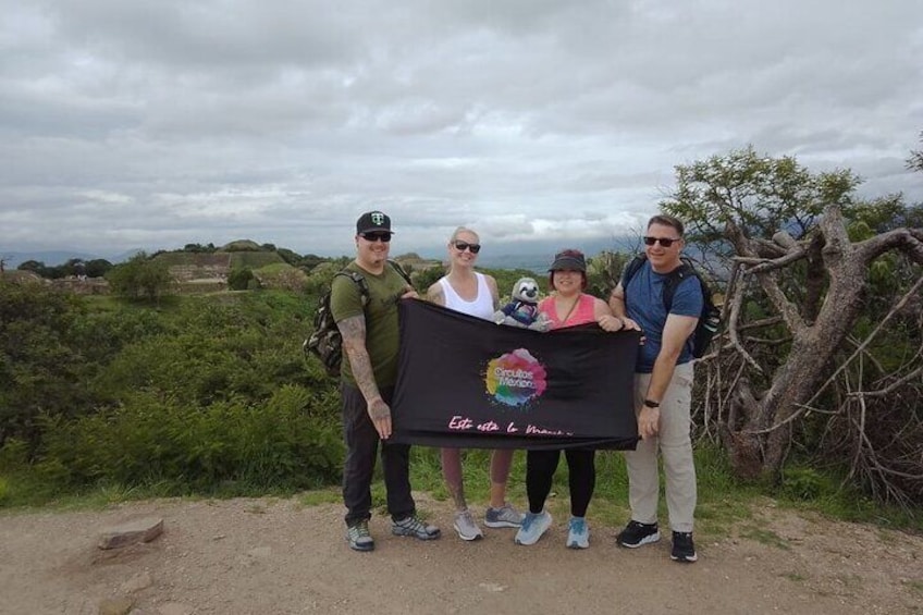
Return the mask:
[[262,405],[229,399],[190,407],[138,393],[111,410],[50,421],[38,470],[70,488],[306,489],[339,476],[343,444],[333,417],[299,386],[283,386]]

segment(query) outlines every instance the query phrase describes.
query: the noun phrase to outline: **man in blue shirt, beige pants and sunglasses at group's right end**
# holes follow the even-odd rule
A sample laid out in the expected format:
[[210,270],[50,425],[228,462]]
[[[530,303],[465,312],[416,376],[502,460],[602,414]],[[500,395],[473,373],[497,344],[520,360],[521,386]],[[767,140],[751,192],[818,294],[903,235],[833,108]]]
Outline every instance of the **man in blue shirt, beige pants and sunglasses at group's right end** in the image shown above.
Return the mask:
[[628,503],[631,520],[618,534],[622,546],[635,549],[656,542],[660,477],[657,453],[663,456],[666,502],[673,529],[670,557],[696,562],[692,542],[696,511],[696,466],[692,459],[692,335],[702,312],[702,290],[689,275],[676,286],[667,313],[663,302],[668,274],[682,265],[682,222],[654,216],[644,236],[647,259],[626,287],[612,292],[610,307],[618,317],[637,322],[644,333],[635,367],[635,406],[641,441],[627,451]]

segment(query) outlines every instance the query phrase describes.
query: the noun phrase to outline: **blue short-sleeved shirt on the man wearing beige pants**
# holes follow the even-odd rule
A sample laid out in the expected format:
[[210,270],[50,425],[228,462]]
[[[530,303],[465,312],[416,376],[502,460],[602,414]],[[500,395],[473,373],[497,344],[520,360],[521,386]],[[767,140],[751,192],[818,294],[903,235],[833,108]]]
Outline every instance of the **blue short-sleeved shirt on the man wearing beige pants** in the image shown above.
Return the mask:
[[[651,269],[651,263],[645,260],[631,276],[628,286],[623,288],[628,318],[637,322],[644,333],[644,344],[639,346],[638,360],[635,364],[635,371],[638,373],[651,373],[661,352],[663,329],[667,317],[663,305],[663,290],[667,278],[667,274],[657,273]],[[694,275],[689,275],[676,287],[669,313],[699,318],[702,315],[703,302],[699,280]],[[676,362],[689,362],[692,358],[690,335]]]

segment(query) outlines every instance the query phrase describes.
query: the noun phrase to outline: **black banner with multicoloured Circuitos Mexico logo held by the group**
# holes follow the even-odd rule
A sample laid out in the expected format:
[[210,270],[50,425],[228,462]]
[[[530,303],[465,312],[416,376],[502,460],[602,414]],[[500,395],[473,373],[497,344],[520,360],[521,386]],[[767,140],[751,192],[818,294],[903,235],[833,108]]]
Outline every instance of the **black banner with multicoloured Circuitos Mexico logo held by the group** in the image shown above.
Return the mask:
[[635,448],[640,333],[540,333],[401,302],[391,439],[464,448]]

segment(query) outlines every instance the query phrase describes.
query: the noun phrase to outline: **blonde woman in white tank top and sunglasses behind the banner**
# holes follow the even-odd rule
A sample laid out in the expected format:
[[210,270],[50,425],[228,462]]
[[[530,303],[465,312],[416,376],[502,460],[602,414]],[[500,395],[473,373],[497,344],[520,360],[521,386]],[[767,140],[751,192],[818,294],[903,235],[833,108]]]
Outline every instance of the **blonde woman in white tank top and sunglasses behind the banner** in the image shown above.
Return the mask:
[[[427,291],[427,298],[450,309],[489,320],[500,307],[496,280],[475,271],[475,261],[481,249],[478,234],[459,226],[448,239],[448,273]],[[506,480],[513,464],[513,450],[496,450],[491,455],[491,502],[484,513],[484,525],[490,528],[518,528],[522,514],[506,502]],[[483,532],[478,527],[468,502],[462,478],[462,451],[442,450],[442,473],[455,502],[455,531],[462,540],[478,540]]]

